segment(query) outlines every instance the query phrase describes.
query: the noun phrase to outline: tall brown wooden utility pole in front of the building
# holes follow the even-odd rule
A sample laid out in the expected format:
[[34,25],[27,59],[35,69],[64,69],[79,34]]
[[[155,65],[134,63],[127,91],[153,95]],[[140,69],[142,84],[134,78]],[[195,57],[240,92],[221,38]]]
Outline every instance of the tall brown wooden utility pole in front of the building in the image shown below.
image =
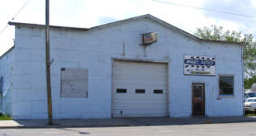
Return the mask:
[[46,0],[46,73],[47,73],[47,107],[48,124],[52,125],[52,104],[50,85],[50,60],[49,60],[49,0]]

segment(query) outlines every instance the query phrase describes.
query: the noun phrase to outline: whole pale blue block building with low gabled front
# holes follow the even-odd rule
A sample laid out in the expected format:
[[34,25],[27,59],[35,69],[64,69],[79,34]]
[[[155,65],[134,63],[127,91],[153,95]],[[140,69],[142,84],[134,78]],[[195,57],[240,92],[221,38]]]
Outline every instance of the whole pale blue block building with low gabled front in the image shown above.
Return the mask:
[[[0,107],[15,119],[47,118],[44,26],[9,24],[15,45],[0,60]],[[50,58],[53,118],[243,116],[242,46],[151,15],[51,26]]]

